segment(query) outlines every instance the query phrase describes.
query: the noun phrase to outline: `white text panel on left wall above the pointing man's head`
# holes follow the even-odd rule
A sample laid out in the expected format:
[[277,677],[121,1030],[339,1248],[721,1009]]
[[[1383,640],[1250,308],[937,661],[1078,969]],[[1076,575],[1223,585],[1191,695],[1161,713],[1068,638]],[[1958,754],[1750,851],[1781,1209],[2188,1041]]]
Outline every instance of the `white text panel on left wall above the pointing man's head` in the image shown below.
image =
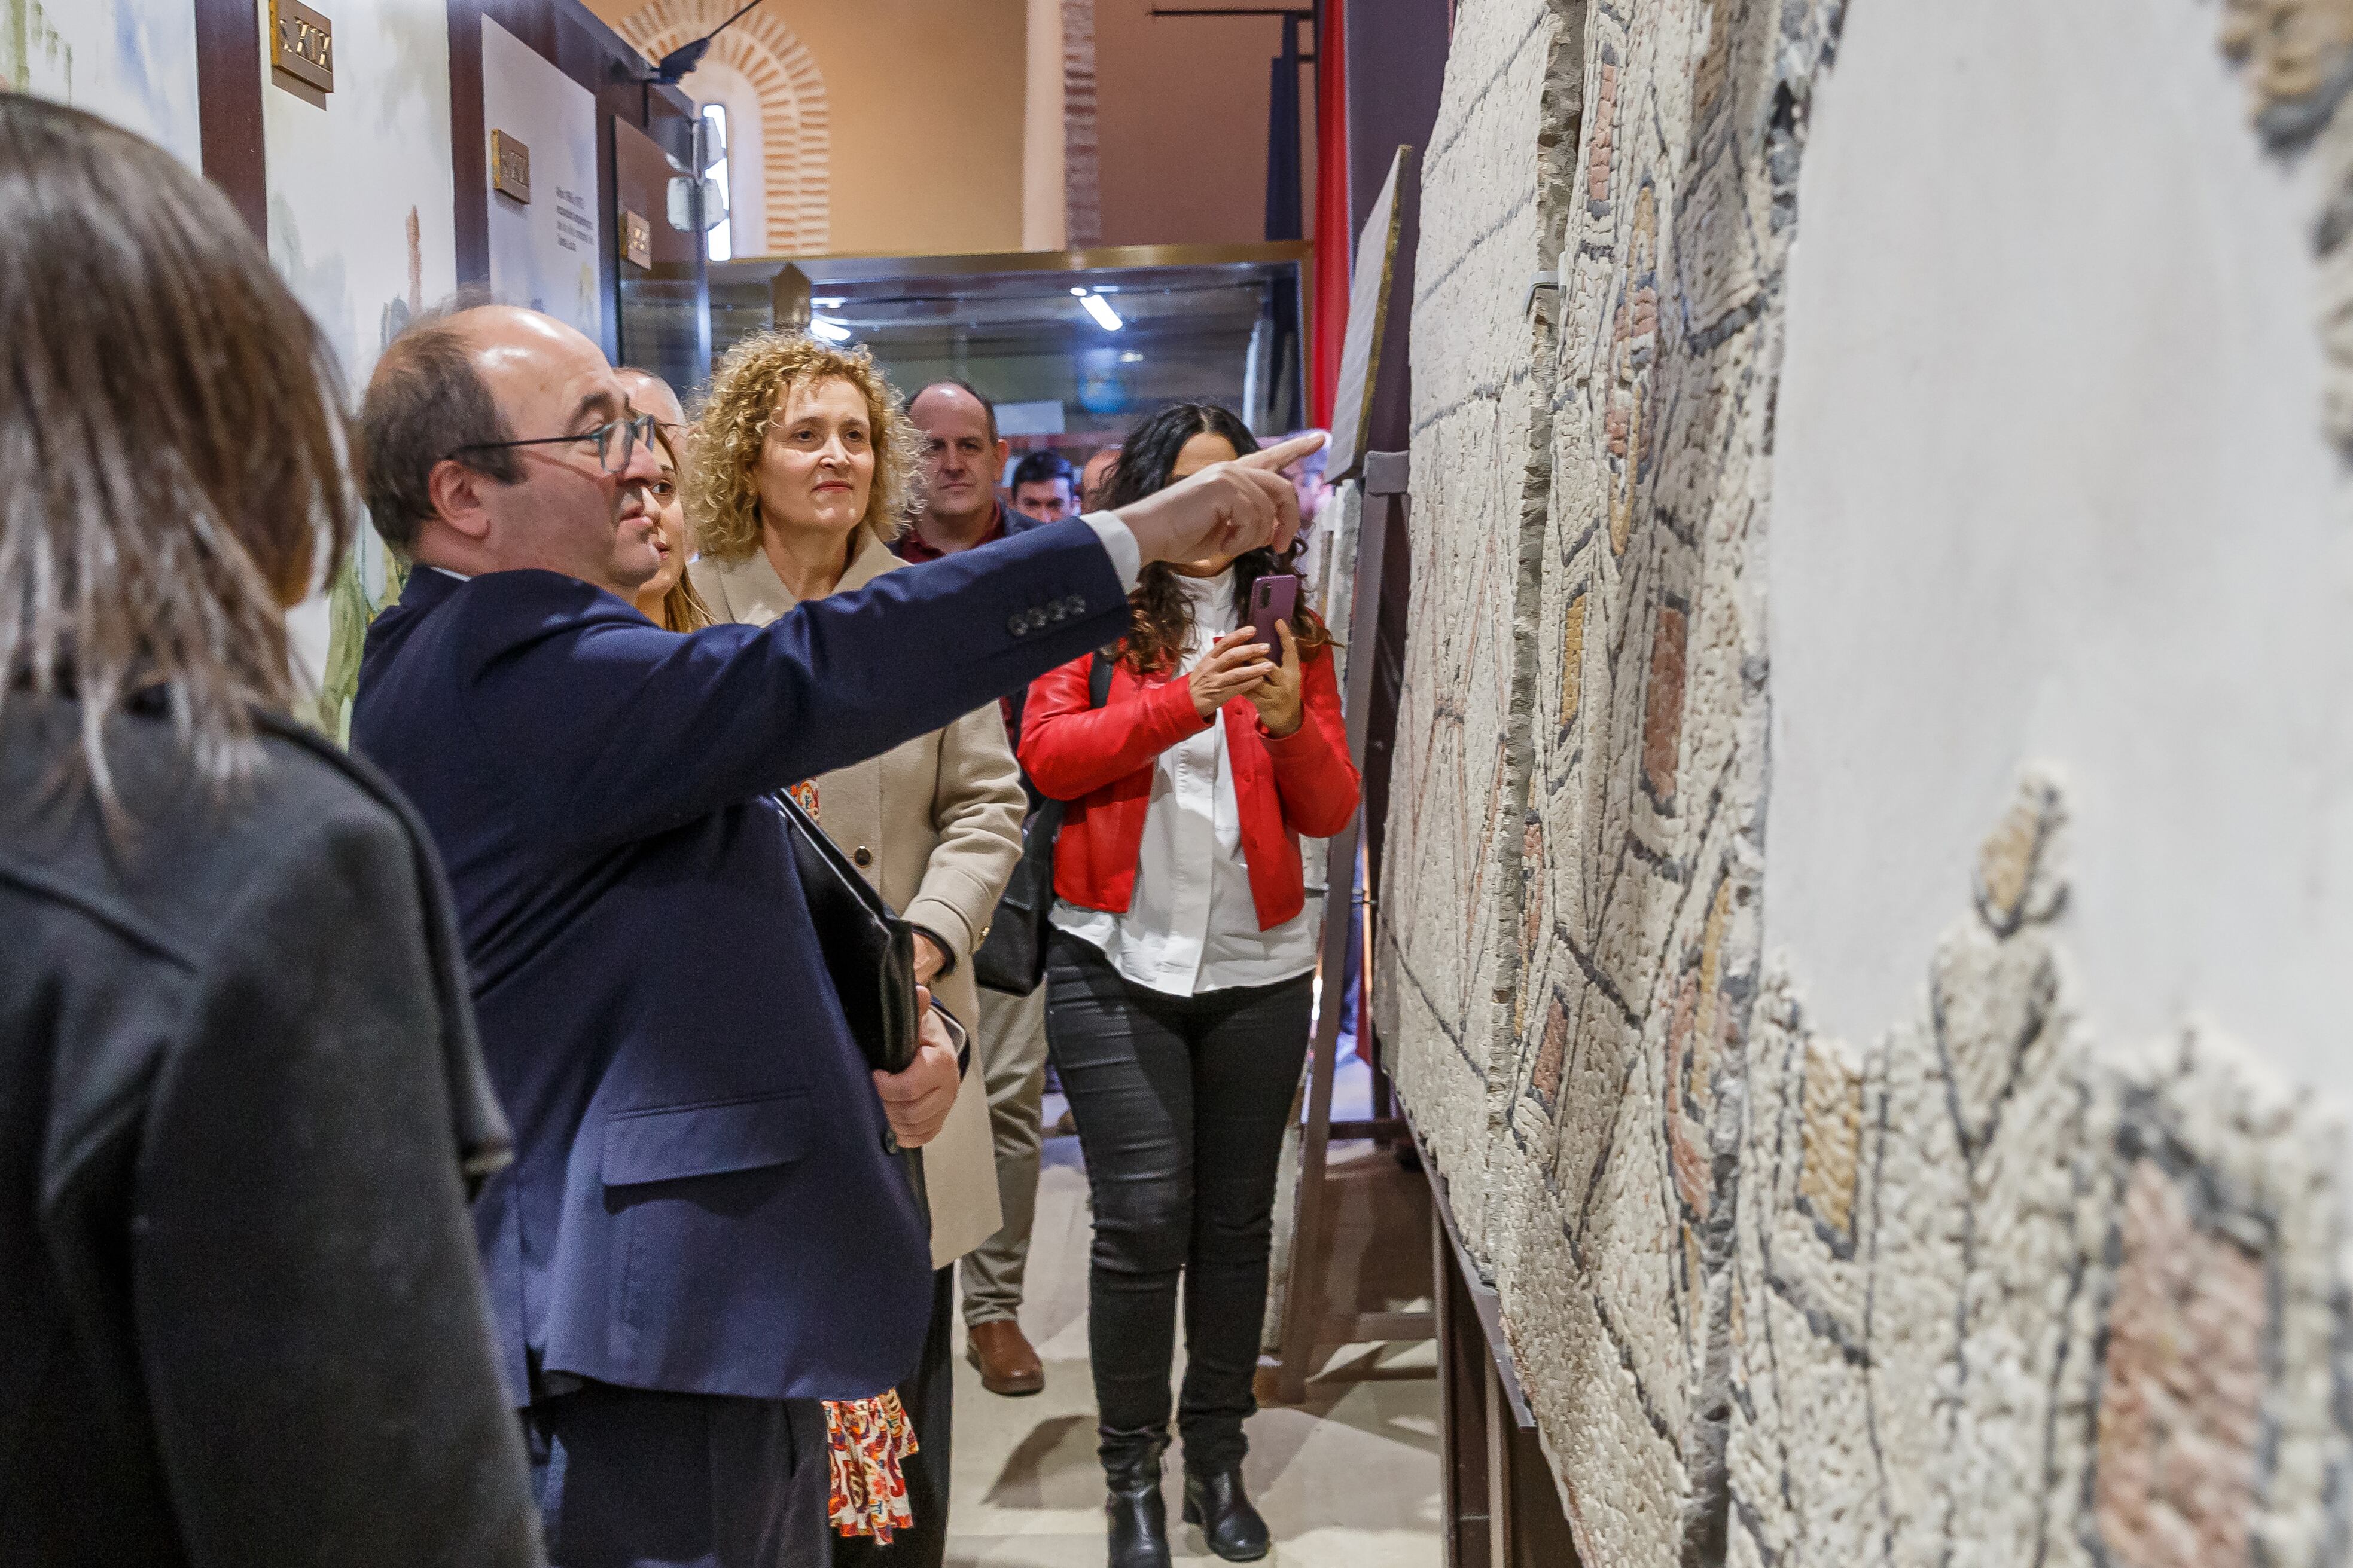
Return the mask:
[[[525,197],[487,193],[489,292],[605,341],[595,94],[482,19],[482,125],[529,148]],[[496,181],[496,176],[494,176]],[[532,193],[553,200],[527,200]]]

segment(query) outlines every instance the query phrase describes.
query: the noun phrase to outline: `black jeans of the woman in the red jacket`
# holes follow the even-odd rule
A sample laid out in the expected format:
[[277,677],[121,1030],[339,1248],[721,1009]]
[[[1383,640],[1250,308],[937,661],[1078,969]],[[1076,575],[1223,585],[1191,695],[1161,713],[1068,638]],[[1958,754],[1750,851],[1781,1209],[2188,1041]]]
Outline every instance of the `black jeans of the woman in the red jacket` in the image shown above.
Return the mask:
[[1167,1443],[1179,1274],[1186,1465],[1228,1469],[1259,1408],[1249,1385],[1275,1166],[1308,1051],[1311,976],[1169,997],[1054,931],[1047,987],[1047,1051],[1094,1192],[1087,1352],[1104,1469]]

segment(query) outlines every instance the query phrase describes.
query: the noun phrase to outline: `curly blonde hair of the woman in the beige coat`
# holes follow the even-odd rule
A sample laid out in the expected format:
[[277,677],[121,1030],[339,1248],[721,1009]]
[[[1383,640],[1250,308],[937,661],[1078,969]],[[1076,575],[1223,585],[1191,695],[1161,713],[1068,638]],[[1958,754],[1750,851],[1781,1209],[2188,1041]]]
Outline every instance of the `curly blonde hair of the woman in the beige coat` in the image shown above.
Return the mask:
[[795,386],[847,381],[873,421],[875,482],[861,524],[882,543],[906,529],[915,505],[922,437],[864,348],[835,348],[805,331],[758,331],[720,360],[696,421],[687,465],[687,522],[704,555],[748,559],[760,548],[760,447]]

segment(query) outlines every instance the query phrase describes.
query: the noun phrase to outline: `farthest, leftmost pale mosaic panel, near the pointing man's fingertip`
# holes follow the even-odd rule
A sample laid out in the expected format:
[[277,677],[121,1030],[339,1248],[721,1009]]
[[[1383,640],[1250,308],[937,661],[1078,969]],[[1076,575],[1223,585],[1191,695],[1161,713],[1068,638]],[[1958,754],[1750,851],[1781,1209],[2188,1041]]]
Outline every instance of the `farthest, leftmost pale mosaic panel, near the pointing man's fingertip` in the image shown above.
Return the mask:
[[[1562,127],[1584,9],[1464,0],[1424,160],[1414,280],[1412,581],[1384,856],[1381,1037],[1485,1248],[1489,1063],[1518,992],[1537,548]],[[1567,136],[1574,143],[1574,134]],[[1534,301],[1534,303],[1529,303]]]

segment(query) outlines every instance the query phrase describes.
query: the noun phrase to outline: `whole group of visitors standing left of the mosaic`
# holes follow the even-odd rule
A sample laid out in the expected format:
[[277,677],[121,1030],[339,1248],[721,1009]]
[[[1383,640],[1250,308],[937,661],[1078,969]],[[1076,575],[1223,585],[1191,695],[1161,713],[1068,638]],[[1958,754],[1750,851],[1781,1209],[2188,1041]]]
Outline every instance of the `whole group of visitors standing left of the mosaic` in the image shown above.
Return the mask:
[[[1179,404],[1002,487],[960,381],[758,334],[689,418],[471,299],[351,418],[136,136],[0,94],[0,1561],[936,1566],[958,1295],[1042,1385],[1049,1056],[1111,1561],[1169,1561],[1179,1295],[1184,1512],[1264,1556],[1299,837],[1358,778],[1329,632],[1249,602],[1320,437]],[[285,611],[360,498],[344,755]],[[878,898],[864,973],[795,835]],[[979,985],[1045,849],[1045,980]]]

